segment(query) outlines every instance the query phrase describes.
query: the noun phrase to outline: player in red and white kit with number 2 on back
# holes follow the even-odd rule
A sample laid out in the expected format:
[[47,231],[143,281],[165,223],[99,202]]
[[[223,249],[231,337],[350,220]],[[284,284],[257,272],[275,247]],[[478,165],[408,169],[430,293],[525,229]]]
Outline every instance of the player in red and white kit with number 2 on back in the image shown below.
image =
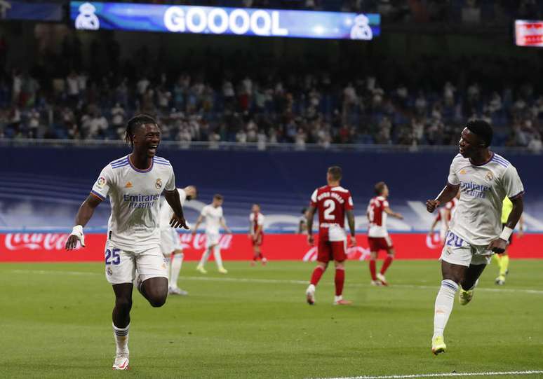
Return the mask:
[[326,180],[328,186],[317,188],[311,195],[311,202],[307,210],[307,242],[314,244],[313,216],[319,210],[319,246],[317,254],[317,266],[311,275],[311,284],[305,294],[307,303],[315,303],[315,287],[329,261],[335,263],[335,305],[349,305],[351,301],[343,300],[343,284],[345,282],[344,261],[347,259],[347,235],[345,234],[345,216],[349,221],[351,231],[351,246],[356,244],[354,237],[353,199],[348,189],[340,186],[342,178],[341,167],[328,168]]

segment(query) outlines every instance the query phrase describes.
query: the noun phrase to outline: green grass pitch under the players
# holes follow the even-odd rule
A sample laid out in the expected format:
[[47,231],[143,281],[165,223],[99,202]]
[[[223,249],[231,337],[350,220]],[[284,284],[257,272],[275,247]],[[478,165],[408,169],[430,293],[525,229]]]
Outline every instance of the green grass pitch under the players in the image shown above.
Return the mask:
[[185,263],[180,287],[189,296],[170,296],[163,308],[151,308],[135,291],[131,369],[121,373],[111,369],[114,298],[102,264],[1,264],[0,378],[323,378],[543,369],[543,261],[511,261],[504,287],[494,284],[497,267],[488,267],[474,300],[462,307],[456,299],[445,331],[448,352],[438,357],[430,351],[441,280],[436,261],[395,261],[387,275],[391,286],[382,288],[370,287],[366,262],[347,262],[350,307],[332,305],[333,270],[317,287],[316,305],[305,303],[304,283],[314,263],[226,266],[229,274],[220,275],[210,262],[208,275],[201,275],[195,263]]

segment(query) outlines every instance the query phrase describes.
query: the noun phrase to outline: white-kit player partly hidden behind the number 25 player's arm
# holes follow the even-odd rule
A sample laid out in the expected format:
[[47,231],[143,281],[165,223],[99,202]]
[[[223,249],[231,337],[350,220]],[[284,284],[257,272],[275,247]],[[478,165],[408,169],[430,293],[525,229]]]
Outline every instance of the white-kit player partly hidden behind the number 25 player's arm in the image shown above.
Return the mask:
[[[195,186],[177,188],[177,191],[182,206],[185,206],[185,200],[194,200],[196,198]],[[170,226],[172,216],[172,207],[166,201],[163,201],[160,208],[160,244],[162,254],[168,261],[168,294],[186,296],[189,293],[177,287],[177,279],[183,264],[184,254],[179,233]]]

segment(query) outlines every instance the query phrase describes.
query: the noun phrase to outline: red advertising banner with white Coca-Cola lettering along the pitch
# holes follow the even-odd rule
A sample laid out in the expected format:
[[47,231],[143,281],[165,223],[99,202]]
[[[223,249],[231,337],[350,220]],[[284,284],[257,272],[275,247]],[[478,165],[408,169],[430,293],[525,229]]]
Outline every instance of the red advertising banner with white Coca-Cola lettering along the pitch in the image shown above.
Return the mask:
[[[203,234],[181,234],[185,259],[200,259],[206,246]],[[429,237],[422,233],[392,234],[398,259],[438,259],[441,242],[438,235]],[[105,234],[87,234],[86,247],[65,250],[68,234],[62,233],[5,233],[0,234],[0,262],[39,261],[103,261]],[[358,235],[358,246],[348,250],[349,259],[364,260],[369,255],[366,235]],[[253,256],[250,239],[244,234],[222,235],[220,238],[222,259],[244,261]],[[543,234],[515,237],[509,249],[511,258],[543,259]],[[307,244],[305,235],[268,234],[264,236],[262,252],[271,261],[314,261],[316,247]],[[213,256],[213,254],[212,254]]]

